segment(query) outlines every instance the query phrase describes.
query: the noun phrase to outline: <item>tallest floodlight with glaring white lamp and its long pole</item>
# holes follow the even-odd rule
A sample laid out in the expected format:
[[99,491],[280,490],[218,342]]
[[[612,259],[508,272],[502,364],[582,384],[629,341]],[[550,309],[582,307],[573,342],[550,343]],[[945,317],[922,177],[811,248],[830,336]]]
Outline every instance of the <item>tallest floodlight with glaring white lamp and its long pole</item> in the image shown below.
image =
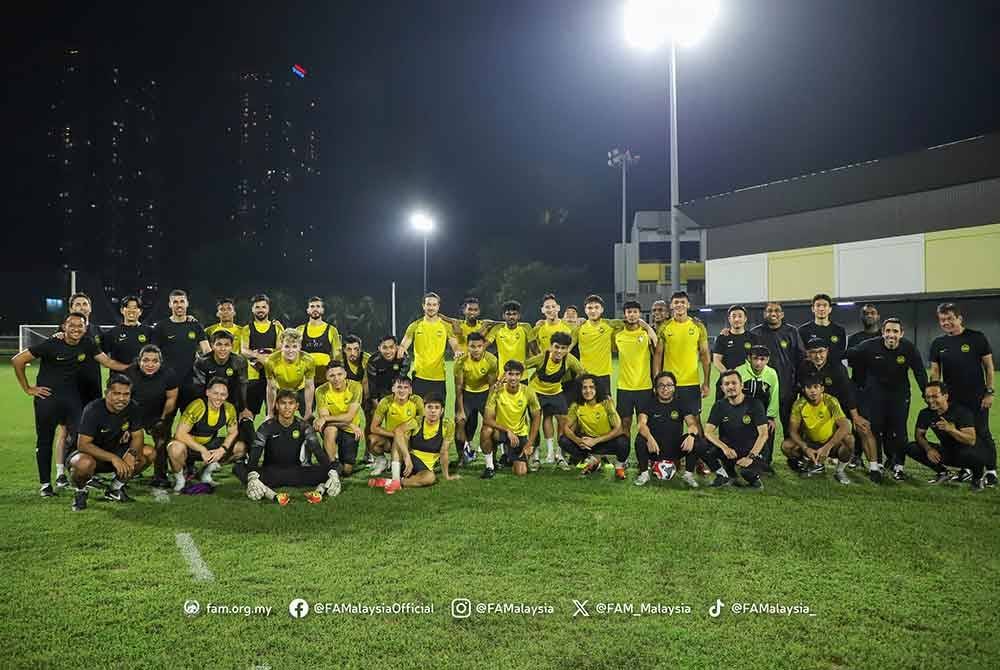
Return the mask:
[[[625,3],[625,39],[652,51],[670,44],[670,291],[680,290],[681,242],[677,222],[677,49],[690,46],[708,32],[719,13],[717,0],[628,0]],[[611,156],[608,156],[611,158]]]

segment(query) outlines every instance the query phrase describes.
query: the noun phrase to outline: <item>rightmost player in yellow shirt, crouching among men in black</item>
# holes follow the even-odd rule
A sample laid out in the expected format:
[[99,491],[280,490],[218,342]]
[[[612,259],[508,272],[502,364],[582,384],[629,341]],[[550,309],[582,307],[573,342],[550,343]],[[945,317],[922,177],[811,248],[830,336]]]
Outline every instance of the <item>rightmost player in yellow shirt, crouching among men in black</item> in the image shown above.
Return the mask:
[[841,484],[850,484],[846,468],[854,454],[851,422],[837,399],[826,393],[819,377],[803,377],[802,394],[792,405],[790,430],[781,443],[788,467],[806,475],[818,475],[826,469],[826,459],[833,454],[839,459],[834,478]]

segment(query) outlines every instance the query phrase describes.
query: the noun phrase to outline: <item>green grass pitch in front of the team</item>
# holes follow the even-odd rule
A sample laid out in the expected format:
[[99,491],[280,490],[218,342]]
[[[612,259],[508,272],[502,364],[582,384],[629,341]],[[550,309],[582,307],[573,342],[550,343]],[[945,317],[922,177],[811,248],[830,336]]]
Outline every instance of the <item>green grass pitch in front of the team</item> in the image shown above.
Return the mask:
[[[637,488],[544,467],[386,496],[363,475],[322,505],[211,496],[157,502],[144,485],[73,514],[41,499],[31,401],[9,366],[0,403],[2,667],[987,668],[1000,658],[1000,497],[800,480],[777,459],[763,492]],[[915,400],[914,410],[922,406]],[[995,413],[996,415],[996,413]],[[994,431],[1000,434],[1000,425]],[[229,468],[225,469],[228,473]],[[708,480],[703,480],[707,484]],[[210,580],[177,544],[188,533]],[[432,603],[433,614],[289,616],[289,602]],[[455,619],[450,603],[553,613]],[[709,607],[719,598],[722,616]],[[573,599],[589,601],[574,617]],[[201,604],[185,616],[185,601]],[[598,604],[690,614],[600,614]],[[733,603],[815,616],[734,614]],[[206,613],[270,606],[270,616]]]

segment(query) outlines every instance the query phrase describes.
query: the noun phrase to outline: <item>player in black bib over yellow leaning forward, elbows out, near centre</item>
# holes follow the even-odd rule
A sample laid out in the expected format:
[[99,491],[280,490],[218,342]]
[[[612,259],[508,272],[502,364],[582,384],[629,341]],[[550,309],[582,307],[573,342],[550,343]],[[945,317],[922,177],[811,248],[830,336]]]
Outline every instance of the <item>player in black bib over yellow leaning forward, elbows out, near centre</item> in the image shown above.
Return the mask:
[[[557,463],[563,470],[569,470],[569,464],[563,458],[562,451],[556,454],[556,442],[566,427],[566,415],[569,408],[563,386],[571,384],[583,374],[583,366],[576,356],[569,353],[572,340],[569,334],[557,331],[552,334],[549,348],[544,353],[532,356],[524,364],[525,368],[535,369],[535,374],[528,382],[528,388],[535,392],[538,404],[542,408],[542,434],[545,437],[545,462]],[[553,423],[555,428],[553,429]],[[537,470],[539,465],[538,451],[532,454],[529,469]]]

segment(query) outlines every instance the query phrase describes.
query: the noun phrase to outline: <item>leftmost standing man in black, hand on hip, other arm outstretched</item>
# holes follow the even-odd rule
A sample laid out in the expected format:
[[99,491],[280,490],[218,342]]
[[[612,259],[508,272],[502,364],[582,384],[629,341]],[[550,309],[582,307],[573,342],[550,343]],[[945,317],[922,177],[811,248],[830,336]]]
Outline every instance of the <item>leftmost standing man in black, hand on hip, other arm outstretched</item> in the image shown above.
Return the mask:
[[[65,426],[67,442],[76,432],[83,410],[80,401],[79,373],[83,365],[96,360],[106,368],[122,372],[127,366],[117,363],[97,348],[92,338],[86,337],[87,319],[83,314],[71,312],[62,323],[63,337],[50,337],[34,344],[11,359],[17,383],[29,396],[35,406],[35,462],[38,466],[38,481],[42,497],[55,495],[52,488],[52,441],[56,427]],[[40,359],[38,378],[35,384],[28,383],[25,373],[28,363]],[[69,482],[63,463],[56,465],[59,485]]]

